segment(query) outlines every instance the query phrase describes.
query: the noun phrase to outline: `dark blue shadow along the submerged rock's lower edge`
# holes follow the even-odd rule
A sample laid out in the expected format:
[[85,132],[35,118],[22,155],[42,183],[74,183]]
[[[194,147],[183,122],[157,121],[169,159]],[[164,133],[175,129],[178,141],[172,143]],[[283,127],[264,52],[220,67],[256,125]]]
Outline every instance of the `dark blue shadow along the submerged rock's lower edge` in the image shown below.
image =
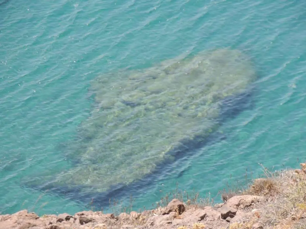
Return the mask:
[[[238,96],[226,98],[223,101],[220,118],[215,121],[220,122],[222,124],[227,120],[237,117],[237,115],[239,115],[242,111],[252,110],[254,108],[254,93],[254,88],[252,88]],[[204,139],[203,136],[198,136],[192,141],[183,141],[181,144],[182,147],[172,151],[170,155],[174,156],[175,162],[181,161],[181,163],[183,163],[186,158],[194,154],[196,149],[212,145],[224,139],[225,136],[219,134],[218,132],[215,132]],[[168,171],[173,171],[174,166],[174,162],[171,160],[163,161],[157,166],[156,170],[153,173],[144,176],[141,180],[137,180],[129,185],[118,184],[116,186],[110,187],[110,191],[103,193],[97,193],[94,190],[92,190],[90,193],[82,193],[82,186],[74,186],[73,188],[63,186],[58,187],[56,186],[56,184],[52,183],[43,184],[40,186],[30,185],[30,187],[44,191],[49,190],[51,192],[64,195],[66,198],[80,201],[85,204],[92,201],[92,205],[95,206],[97,209],[100,209],[101,207],[107,208],[109,206],[110,199],[126,198],[127,196],[129,196],[129,194],[132,194],[134,197],[137,198],[137,196],[142,194],[142,192],[144,191],[144,187],[148,187],[154,184],[155,180],[158,180],[159,177],[164,174],[167,174]],[[181,173],[178,173],[177,177],[182,176],[184,172],[185,170]]]

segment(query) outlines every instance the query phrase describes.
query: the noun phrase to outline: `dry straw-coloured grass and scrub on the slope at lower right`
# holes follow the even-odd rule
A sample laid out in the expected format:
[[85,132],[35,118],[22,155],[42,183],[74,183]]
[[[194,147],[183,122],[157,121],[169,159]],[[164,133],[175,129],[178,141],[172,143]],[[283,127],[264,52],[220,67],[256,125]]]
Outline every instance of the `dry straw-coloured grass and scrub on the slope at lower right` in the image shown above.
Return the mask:
[[282,170],[271,173],[263,169],[265,178],[255,179],[248,189],[241,193],[229,191],[223,195],[235,196],[250,194],[265,196],[266,202],[260,203],[252,217],[244,222],[230,224],[230,229],[251,229],[260,222],[263,228],[306,228],[306,164],[301,169]]

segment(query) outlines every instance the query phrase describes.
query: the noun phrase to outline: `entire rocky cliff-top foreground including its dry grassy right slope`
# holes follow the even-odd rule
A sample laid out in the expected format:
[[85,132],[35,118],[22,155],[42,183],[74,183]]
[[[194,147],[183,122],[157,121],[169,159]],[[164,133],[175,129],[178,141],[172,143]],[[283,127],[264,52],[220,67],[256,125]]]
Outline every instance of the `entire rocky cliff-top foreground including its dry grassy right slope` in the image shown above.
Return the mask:
[[306,164],[270,173],[248,190],[223,193],[224,203],[198,205],[172,199],[166,207],[142,213],[84,211],[37,216],[27,210],[0,216],[3,229],[260,229],[306,228]]

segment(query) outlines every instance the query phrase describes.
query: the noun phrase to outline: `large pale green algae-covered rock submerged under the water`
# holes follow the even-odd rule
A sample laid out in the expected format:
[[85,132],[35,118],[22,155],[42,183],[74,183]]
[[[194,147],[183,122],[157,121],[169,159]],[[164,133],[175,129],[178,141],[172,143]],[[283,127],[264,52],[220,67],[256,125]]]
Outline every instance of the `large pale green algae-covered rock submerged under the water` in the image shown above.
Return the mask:
[[78,164],[56,185],[103,192],[141,179],[215,132],[222,100],[243,93],[255,79],[249,59],[231,49],[115,74],[93,82],[96,107],[70,155]]

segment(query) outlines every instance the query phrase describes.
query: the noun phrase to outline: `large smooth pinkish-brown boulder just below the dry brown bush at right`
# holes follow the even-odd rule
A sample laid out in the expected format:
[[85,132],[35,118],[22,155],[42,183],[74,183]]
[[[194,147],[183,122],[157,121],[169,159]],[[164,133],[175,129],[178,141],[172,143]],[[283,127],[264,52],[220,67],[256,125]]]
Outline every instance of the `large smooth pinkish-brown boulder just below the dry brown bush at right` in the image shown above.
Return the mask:
[[252,195],[233,196],[226,202],[226,205],[237,209],[245,209],[250,207],[254,203],[261,202],[264,200],[265,198],[263,196],[252,196]]

